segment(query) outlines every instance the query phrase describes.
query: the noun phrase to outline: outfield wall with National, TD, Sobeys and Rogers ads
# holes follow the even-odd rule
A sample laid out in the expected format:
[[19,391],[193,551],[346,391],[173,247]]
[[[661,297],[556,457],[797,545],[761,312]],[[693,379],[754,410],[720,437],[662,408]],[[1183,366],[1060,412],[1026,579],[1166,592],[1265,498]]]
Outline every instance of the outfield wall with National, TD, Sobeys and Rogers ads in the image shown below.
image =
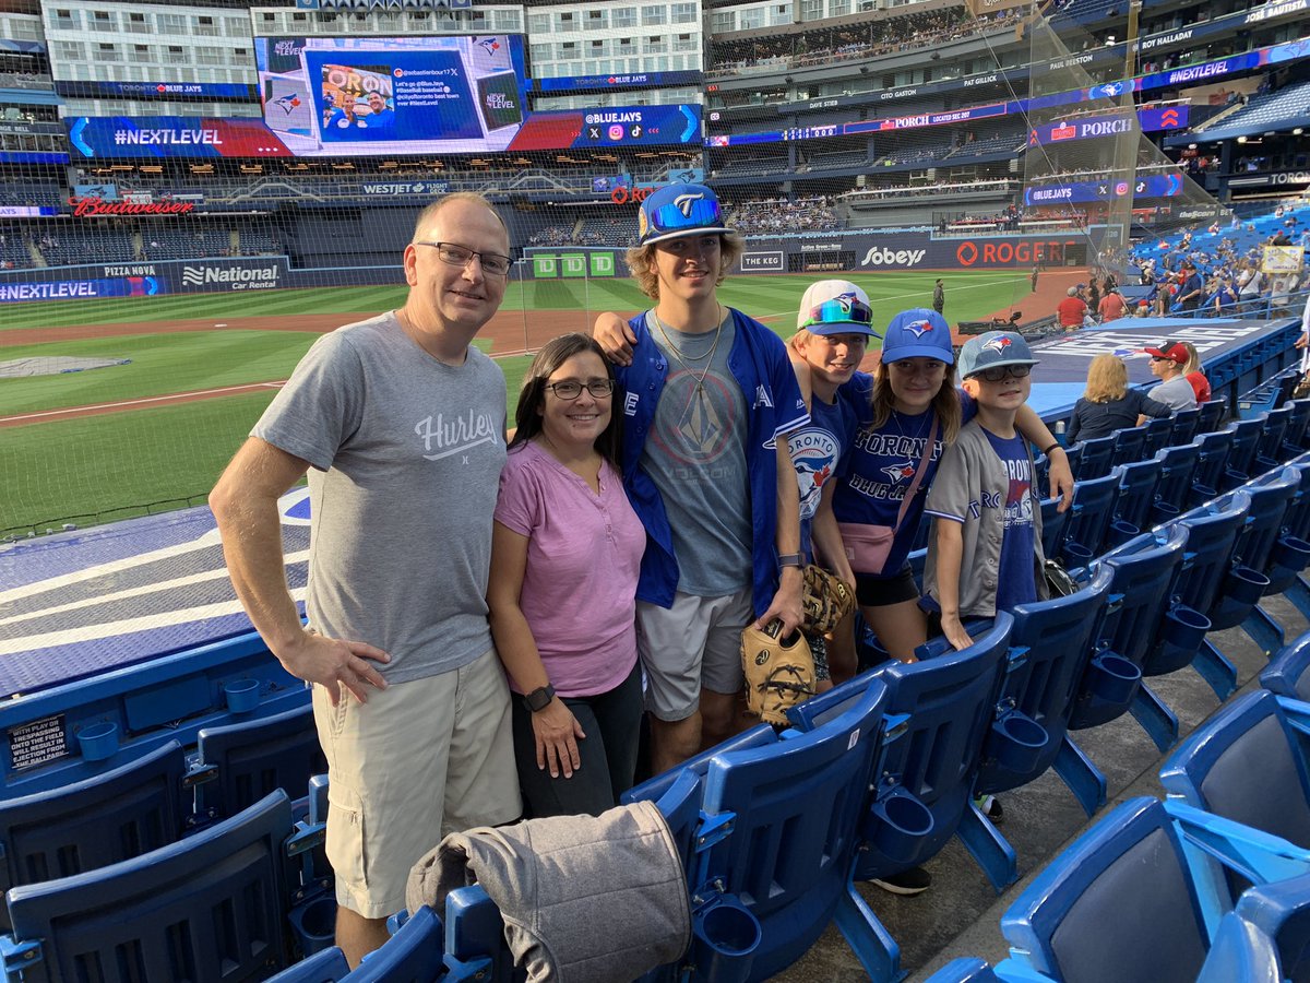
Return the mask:
[[[524,250],[516,279],[626,277],[622,249]],[[934,239],[927,232],[848,232],[751,239],[736,273],[1023,269],[1086,265],[1087,242],[1070,235]],[[0,304],[29,300],[147,298],[401,283],[401,266],[295,269],[286,256],[88,263],[0,273]]]

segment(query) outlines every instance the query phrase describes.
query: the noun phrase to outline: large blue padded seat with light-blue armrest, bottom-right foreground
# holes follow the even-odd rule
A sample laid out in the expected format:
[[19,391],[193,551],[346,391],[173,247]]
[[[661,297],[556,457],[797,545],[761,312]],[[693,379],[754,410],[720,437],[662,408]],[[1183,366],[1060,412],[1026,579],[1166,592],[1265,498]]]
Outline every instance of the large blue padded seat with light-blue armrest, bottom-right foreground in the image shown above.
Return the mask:
[[1231,910],[1216,862],[1259,883],[1310,870],[1310,855],[1284,840],[1182,803],[1133,798],[1051,861],[1005,912],[1011,961],[1055,983],[1195,980],[1209,925]]

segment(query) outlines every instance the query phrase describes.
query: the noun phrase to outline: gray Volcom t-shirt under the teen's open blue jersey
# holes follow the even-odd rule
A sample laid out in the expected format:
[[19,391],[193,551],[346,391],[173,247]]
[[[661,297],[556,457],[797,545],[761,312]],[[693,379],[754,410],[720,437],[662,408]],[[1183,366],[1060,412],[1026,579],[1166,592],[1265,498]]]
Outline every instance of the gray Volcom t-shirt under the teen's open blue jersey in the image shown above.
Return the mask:
[[751,586],[751,499],[745,397],[728,371],[736,333],[732,316],[723,322],[718,345],[714,332],[684,334],[667,325],[665,339],[654,312],[646,320],[651,341],[668,359],[668,379],[642,467],[664,499],[677,588],[698,598],[734,594]]

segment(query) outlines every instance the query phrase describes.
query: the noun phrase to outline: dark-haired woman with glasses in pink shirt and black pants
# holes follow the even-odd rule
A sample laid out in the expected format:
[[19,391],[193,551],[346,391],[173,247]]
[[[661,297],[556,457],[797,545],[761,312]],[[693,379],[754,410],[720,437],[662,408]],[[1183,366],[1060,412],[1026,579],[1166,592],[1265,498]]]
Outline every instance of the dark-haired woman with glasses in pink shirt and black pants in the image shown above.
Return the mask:
[[491,533],[491,636],[529,814],[599,815],[631,786],[642,714],[646,532],[616,467],[614,380],[584,334],[549,342],[519,395]]

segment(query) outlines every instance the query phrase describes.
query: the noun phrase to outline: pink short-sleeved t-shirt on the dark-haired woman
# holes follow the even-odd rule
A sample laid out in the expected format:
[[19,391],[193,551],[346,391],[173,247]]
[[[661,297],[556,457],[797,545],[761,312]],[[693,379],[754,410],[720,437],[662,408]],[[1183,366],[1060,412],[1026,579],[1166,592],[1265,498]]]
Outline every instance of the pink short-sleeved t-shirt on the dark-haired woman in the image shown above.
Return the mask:
[[597,495],[529,440],[510,451],[495,518],[528,537],[519,607],[555,692],[595,696],[617,687],[637,663],[637,575],[646,549],[618,472],[601,464]]

